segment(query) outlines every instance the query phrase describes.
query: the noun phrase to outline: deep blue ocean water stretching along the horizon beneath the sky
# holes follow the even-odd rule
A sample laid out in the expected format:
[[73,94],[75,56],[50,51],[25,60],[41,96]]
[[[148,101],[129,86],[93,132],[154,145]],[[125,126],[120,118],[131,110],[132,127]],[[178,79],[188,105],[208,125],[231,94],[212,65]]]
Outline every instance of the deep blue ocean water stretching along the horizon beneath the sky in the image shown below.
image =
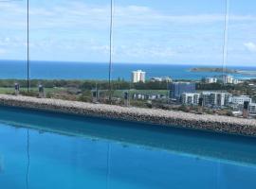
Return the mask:
[[[202,66],[202,65],[201,65]],[[201,79],[221,75],[221,73],[192,73],[190,68],[201,67],[199,65],[164,65],[145,63],[114,63],[113,78],[130,80],[131,72],[141,69],[151,77],[172,77],[174,79]],[[211,66],[212,67],[212,66]],[[256,67],[228,67],[242,70],[255,70]],[[64,79],[108,79],[107,63],[79,63],[58,61],[31,61],[31,78],[64,78]],[[250,78],[256,76],[234,75],[237,78]],[[27,62],[17,60],[0,61],[0,78],[26,78]]]

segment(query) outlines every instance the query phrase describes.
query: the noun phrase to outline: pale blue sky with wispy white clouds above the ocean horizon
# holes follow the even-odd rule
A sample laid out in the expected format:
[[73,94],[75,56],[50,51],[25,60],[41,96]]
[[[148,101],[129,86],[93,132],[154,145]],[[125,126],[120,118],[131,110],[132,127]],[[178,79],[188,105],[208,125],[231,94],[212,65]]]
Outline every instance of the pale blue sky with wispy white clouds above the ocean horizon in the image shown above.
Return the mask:
[[[0,60],[26,60],[27,2],[0,0]],[[223,62],[225,0],[115,0],[114,62]],[[229,0],[227,65],[256,65],[256,1]],[[107,62],[110,0],[30,0],[30,59]]]

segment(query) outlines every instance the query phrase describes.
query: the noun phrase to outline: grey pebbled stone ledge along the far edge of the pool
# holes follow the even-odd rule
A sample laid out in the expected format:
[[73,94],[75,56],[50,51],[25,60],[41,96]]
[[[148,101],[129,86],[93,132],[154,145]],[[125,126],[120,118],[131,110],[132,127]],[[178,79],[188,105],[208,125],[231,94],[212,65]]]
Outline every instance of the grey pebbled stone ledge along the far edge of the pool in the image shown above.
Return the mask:
[[114,105],[92,104],[49,98],[0,94],[1,106],[66,112],[125,121],[157,124],[162,127],[201,129],[215,132],[256,136],[256,120],[229,116],[193,114]]

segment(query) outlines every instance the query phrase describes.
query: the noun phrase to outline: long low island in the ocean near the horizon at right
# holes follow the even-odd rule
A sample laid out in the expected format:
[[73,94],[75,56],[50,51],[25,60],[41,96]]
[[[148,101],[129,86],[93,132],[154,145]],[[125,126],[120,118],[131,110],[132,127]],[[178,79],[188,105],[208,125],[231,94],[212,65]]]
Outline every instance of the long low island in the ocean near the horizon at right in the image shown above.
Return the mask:
[[225,69],[223,68],[212,68],[212,67],[198,67],[191,68],[190,72],[215,72],[215,73],[226,73],[226,74],[242,74],[242,75],[250,75],[256,76],[256,70],[248,71],[248,70],[237,70],[237,69]]

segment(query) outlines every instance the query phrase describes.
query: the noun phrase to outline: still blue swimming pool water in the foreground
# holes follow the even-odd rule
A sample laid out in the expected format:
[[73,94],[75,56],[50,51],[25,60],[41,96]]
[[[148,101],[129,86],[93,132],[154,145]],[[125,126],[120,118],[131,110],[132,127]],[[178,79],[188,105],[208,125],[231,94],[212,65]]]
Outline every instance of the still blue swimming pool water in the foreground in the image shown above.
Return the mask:
[[255,189],[256,140],[0,107],[2,189]]

